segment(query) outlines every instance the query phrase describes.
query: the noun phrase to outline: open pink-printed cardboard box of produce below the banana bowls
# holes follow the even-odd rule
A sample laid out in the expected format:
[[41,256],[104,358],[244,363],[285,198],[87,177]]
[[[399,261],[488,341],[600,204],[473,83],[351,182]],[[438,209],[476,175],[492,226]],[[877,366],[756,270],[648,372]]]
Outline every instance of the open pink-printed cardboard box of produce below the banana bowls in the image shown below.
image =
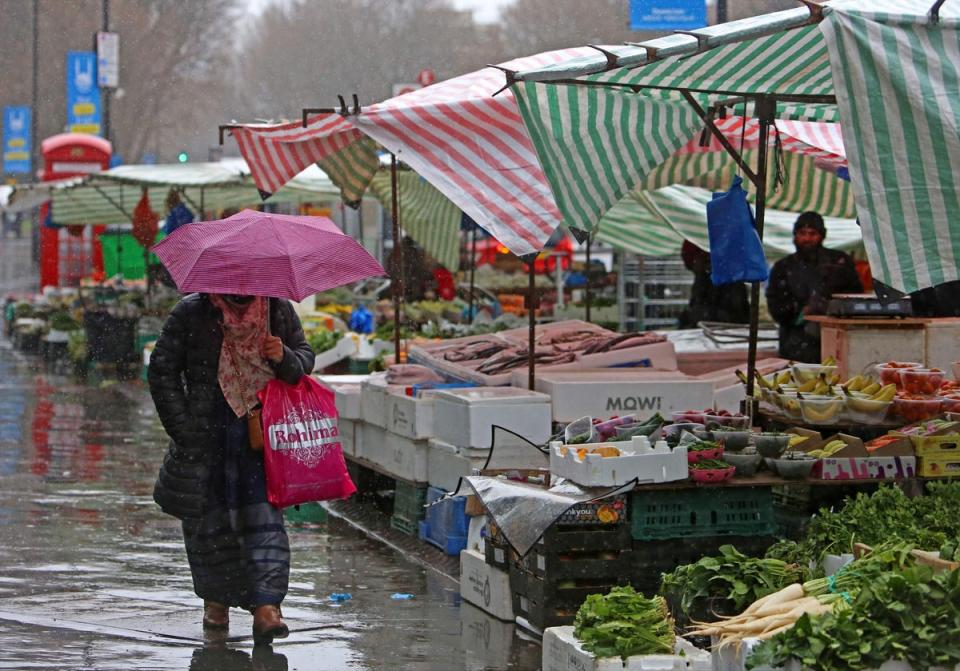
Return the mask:
[[834,440],[842,440],[846,447],[831,457],[817,461],[810,477],[819,480],[899,480],[916,477],[917,458],[908,440],[889,443],[870,453],[859,438],[838,433],[820,442],[807,441],[794,449],[812,452]]

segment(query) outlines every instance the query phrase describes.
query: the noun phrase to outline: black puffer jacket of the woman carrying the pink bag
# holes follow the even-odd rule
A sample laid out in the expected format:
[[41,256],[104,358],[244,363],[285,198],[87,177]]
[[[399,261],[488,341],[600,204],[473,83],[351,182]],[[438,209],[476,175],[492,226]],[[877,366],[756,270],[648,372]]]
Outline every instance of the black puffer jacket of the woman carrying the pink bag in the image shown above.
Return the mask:
[[[164,512],[197,519],[207,499],[209,458],[223,435],[226,401],[217,380],[222,314],[205,294],[190,294],[173,308],[150,357],[150,394],[170,447],[153,498]],[[270,299],[270,331],[284,344],[277,377],[295,384],[313,370],[314,354],[289,301]]]

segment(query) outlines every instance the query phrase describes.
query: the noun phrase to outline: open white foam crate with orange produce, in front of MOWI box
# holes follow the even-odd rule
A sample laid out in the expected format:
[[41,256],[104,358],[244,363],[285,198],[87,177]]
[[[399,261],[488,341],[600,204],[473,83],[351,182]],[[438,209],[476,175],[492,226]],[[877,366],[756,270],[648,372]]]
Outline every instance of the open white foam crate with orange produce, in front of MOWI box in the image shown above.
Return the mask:
[[619,487],[635,479],[640,483],[673,482],[689,476],[686,447],[650,447],[644,436],[603,445],[617,448],[621,456],[587,454],[581,461],[577,450],[595,445],[550,443],[550,472],[587,487]]

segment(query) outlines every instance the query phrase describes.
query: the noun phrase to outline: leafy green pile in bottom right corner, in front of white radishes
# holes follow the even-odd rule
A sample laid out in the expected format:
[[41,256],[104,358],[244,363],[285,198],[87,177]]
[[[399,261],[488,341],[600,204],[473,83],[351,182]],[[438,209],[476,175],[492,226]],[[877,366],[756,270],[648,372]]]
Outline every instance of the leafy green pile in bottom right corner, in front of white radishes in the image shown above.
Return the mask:
[[863,585],[849,606],[804,615],[759,645],[747,668],[782,667],[791,660],[809,671],[878,669],[888,660],[914,669],[960,663],[960,571],[926,566],[884,573]]

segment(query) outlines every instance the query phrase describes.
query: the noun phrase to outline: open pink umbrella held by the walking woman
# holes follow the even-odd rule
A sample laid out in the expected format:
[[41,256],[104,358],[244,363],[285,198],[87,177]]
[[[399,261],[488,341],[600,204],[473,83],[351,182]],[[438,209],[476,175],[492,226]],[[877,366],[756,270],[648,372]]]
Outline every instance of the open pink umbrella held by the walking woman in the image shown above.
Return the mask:
[[386,275],[376,259],[326,217],[244,210],[181,226],[153,247],[180,291],[307,296]]

